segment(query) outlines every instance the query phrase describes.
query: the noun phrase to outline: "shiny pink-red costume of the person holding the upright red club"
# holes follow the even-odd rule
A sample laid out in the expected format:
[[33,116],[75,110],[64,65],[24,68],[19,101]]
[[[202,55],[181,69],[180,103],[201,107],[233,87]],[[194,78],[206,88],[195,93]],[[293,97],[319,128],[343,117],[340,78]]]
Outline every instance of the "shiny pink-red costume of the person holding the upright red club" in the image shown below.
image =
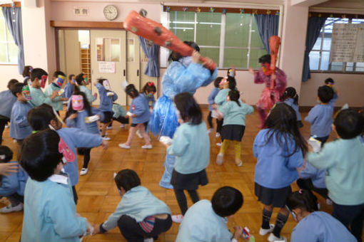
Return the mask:
[[275,68],[275,76],[275,87],[271,89],[271,75],[266,75],[263,68],[259,69],[254,75],[254,83],[266,83],[266,88],[264,88],[261,99],[259,99],[257,103],[258,112],[261,116],[261,127],[263,127],[264,122],[266,122],[267,112],[271,110],[273,105],[275,105],[275,102],[278,102],[287,86],[287,77],[283,70]]

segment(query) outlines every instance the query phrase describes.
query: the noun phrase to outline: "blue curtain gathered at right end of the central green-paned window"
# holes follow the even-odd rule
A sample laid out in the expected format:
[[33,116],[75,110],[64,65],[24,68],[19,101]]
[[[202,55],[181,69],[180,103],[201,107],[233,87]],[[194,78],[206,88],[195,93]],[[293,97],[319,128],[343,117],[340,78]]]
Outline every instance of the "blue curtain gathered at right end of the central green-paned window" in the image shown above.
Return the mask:
[[254,16],[256,18],[256,24],[258,25],[259,35],[263,41],[264,48],[266,48],[268,53],[271,53],[269,38],[271,38],[271,36],[278,36],[279,16],[268,14],[256,14]]

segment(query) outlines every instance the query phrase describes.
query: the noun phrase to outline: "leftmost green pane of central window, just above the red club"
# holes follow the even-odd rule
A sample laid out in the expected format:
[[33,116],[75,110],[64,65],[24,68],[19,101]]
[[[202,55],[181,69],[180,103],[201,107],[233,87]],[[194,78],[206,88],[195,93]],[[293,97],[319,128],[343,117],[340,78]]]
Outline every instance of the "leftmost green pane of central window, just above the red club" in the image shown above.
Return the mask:
[[193,41],[195,34],[195,13],[172,11],[169,28],[181,41]]

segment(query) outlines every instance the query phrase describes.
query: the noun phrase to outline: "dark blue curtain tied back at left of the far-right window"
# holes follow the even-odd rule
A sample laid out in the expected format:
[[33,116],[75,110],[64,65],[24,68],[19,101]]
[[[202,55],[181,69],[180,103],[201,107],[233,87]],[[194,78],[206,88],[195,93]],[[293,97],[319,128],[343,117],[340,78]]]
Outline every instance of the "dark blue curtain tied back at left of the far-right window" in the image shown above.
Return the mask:
[[320,35],[320,30],[323,28],[326,18],[323,17],[310,17],[308,18],[307,35],[306,35],[306,49],[305,49],[305,60],[303,61],[303,73],[302,81],[311,78],[310,73],[310,51],[312,50],[315,42]]

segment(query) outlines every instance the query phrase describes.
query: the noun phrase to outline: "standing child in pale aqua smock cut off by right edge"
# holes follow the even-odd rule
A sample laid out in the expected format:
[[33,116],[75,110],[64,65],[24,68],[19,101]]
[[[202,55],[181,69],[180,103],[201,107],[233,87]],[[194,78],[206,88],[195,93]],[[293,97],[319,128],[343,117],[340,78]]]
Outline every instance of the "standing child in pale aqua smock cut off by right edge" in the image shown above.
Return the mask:
[[327,169],[328,196],[333,200],[333,216],[360,241],[364,215],[364,144],[360,140],[364,118],[356,110],[341,110],[333,123],[338,140],[325,144],[306,160],[313,167]]

